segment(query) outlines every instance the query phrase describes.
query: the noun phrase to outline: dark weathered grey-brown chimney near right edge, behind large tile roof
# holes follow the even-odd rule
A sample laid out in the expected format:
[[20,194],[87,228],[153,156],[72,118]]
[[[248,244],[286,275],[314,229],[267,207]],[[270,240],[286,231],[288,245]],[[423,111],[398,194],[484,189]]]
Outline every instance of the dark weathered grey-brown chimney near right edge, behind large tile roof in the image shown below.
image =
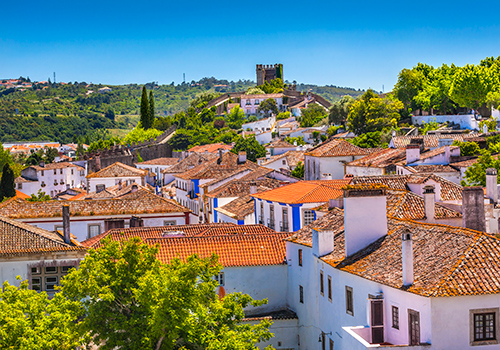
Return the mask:
[[463,227],[485,232],[484,192],[482,187],[462,190]]

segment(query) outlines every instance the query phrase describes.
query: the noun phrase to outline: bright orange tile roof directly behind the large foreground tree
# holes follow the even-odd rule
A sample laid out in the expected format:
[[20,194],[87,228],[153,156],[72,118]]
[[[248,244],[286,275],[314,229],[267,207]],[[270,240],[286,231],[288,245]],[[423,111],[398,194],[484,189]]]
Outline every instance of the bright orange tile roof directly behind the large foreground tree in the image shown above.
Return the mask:
[[224,267],[267,266],[286,263],[284,239],[288,235],[274,233],[159,238],[148,239],[146,243],[159,245],[157,257],[164,263],[174,258],[185,260],[193,254],[202,258],[216,254]]

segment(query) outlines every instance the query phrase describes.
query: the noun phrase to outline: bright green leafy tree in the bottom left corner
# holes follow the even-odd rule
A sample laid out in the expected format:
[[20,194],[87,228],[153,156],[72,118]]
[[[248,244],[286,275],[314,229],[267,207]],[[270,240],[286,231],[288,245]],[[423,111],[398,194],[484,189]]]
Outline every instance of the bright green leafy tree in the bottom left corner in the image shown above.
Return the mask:
[[82,344],[79,337],[79,302],[56,294],[19,288],[5,282],[0,288],[0,348],[19,350],[70,350]]

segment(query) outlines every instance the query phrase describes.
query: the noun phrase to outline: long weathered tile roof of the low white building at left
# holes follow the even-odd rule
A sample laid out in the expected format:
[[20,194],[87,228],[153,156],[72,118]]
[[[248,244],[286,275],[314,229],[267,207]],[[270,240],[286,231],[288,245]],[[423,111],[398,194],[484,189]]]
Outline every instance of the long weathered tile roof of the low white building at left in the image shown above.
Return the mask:
[[12,198],[0,204],[0,215],[11,219],[58,217],[62,215],[63,205],[70,206],[71,216],[184,213],[190,211],[171,199],[162,198],[140,189],[117,199],[27,202]]

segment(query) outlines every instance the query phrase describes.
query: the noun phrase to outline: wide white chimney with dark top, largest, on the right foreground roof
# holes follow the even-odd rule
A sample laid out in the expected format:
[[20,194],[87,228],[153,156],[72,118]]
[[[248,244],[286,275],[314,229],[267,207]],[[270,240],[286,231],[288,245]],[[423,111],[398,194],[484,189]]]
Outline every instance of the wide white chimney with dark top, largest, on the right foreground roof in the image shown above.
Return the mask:
[[386,189],[345,189],[344,227],[346,257],[387,235]]

